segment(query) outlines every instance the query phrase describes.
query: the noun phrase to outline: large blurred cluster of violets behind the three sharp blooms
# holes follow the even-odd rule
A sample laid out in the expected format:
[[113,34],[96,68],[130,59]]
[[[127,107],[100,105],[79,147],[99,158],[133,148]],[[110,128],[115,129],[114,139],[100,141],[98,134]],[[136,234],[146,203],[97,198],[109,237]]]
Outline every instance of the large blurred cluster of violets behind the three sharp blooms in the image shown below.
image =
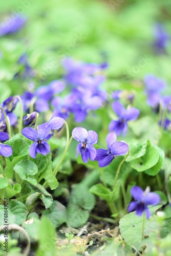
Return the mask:
[[[22,96],[24,110],[28,111],[30,103],[35,99],[34,110],[38,113],[53,108],[53,117],[66,120],[72,113],[76,122],[82,122],[90,111],[99,109],[107,98],[105,91],[100,89],[105,80],[101,73],[106,65],[66,58],[63,60],[63,67],[66,70],[63,80],[53,80],[35,91],[30,84],[30,88]],[[70,93],[60,97],[59,94],[66,85],[70,88]]]

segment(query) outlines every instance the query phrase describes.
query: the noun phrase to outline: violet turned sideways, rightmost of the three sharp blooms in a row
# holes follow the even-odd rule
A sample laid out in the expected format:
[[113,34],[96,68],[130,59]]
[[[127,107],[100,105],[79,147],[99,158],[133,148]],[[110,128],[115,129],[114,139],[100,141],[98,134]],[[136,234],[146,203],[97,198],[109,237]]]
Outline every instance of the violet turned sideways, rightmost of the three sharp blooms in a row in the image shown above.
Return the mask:
[[99,167],[109,165],[116,156],[125,155],[129,150],[129,146],[125,142],[116,142],[115,133],[109,133],[106,137],[106,142],[108,150],[104,150],[103,148],[97,150],[95,160],[98,161]]

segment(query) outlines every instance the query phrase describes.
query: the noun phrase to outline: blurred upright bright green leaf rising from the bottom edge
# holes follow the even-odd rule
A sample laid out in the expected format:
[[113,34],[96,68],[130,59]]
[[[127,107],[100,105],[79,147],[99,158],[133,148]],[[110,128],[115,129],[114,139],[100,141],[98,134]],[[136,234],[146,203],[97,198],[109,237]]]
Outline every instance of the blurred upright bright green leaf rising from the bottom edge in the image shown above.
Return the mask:
[[50,219],[42,216],[38,229],[38,250],[37,256],[56,255],[56,231]]

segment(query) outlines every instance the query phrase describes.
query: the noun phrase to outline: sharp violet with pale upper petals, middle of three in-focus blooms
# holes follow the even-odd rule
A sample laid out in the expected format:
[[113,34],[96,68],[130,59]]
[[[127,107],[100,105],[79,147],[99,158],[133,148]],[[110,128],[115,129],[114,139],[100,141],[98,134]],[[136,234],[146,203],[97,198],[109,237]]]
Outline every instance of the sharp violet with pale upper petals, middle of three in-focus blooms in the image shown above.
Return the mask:
[[88,162],[90,158],[93,161],[96,157],[96,149],[92,144],[96,144],[98,140],[98,135],[94,131],[87,131],[82,127],[76,127],[72,131],[72,136],[75,140],[79,142],[77,145],[77,154],[81,153],[82,161],[84,163]]

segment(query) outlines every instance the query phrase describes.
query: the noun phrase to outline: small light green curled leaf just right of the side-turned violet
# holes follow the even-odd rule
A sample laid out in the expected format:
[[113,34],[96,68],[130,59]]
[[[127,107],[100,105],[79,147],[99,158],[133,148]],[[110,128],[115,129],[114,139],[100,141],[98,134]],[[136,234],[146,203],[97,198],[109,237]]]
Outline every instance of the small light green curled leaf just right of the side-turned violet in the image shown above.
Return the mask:
[[145,155],[147,142],[147,140],[144,140],[143,142],[133,142],[129,144],[130,154],[125,161],[130,162]]

